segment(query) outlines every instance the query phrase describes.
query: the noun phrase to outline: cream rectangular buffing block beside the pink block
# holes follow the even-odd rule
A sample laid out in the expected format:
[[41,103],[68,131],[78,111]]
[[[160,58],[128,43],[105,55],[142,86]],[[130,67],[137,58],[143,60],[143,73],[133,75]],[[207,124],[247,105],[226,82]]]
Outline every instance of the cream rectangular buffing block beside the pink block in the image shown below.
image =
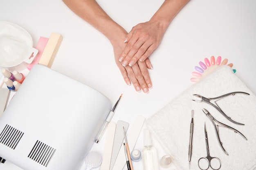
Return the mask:
[[51,68],[52,63],[55,59],[55,56],[58,52],[58,48],[61,46],[61,41],[63,37],[58,33],[52,33],[49,37],[49,40],[45,46],[45,50],[43,51],[38,64],[46,65]]

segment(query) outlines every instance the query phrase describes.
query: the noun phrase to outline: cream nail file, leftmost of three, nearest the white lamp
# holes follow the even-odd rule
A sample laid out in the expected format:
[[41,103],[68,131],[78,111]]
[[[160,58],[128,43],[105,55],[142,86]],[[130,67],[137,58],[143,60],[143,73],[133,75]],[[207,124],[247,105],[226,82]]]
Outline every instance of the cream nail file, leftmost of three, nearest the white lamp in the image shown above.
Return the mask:
[[111,155],[112,155],[112,148],[114,144],[115,131],[116,131],[115,122],[109,122],[107,127],[105,146],[103,150],[102,163],[99,170],[109,170]]

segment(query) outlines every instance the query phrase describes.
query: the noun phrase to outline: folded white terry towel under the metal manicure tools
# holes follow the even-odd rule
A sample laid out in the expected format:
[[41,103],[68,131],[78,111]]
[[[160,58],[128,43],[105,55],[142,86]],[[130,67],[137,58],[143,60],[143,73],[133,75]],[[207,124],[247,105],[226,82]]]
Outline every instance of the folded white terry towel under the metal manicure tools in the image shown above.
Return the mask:
[[[239,91],[247,92],[250,95],[231,95],[219,100],[218,105],[232,120],[245,125],[234,124],[213,106],[192,100],[200,99],[193,96],[193,94],[213,98]],[[207,109],[219,122],[243,133],[248,140],[230,129],[219,127],[222,145],[229,156],[226,155],[218,143],[211,120],[202,111],[203,108]],[[172,155],[177,168],[182,170],[189,169],[188,150],[191,110],[194,110],[192,170],[199,169],[198,159],[207,155],[204,122],[208,132],[210,155],[221,160],[221,169],[248,170],[256,167],[256,96],[234,74],[229,66],[220,66],[146,120],[146,126],[150,132],[162,144],[166,152]]]

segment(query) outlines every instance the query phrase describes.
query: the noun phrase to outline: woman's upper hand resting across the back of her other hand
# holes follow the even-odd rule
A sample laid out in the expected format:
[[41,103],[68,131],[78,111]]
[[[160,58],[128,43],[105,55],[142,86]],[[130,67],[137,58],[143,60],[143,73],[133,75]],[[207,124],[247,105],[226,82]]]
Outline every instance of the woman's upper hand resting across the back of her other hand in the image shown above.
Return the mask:
[[125,67],[133,66],[137,61],[145,61],[159,46],[165,31],[166,26],[158,20],[134,26],[124,40],[126,46],[119,56],[119,62]]

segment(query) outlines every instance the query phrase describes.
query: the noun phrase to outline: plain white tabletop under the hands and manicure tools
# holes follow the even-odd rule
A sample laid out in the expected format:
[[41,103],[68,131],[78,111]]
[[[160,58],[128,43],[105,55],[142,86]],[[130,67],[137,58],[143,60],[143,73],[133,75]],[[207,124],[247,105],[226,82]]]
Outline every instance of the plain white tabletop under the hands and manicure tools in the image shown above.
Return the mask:
[[[132,26],[149,20],[163,0],[97,2],[130,31]],[[60,33],[63,41],[52,69],[97,89],[113,104],[123,94],[112,121],[123,120],[132,126],[138,115],[148,118],[189,88],[193,84],[190,78],[194,67],[212,55],[233,63],[235,74],[256,94],[255,7],[254,0],[191,0],[171,22],[160,46],[150,56],[154,69],[149,71],[153,82],[149,94],[138,93],[132,85],[126,85],[108,39],[61,0],[0,0],[0,21],[18,24],[27,30],[34,47],[40,36]],[[103,152],[105,137],[94,144],[92,150]],[[154,138],[153,145],[160,159],[165,155],[164,150]],[[141,131],[135,149],[142,147]],[[142,169],[143,163],[139,161],[133,166],[135,170]],[[20,170],[8,160],[0,164],[0,169]],[[159,169],[164,168],[159,166]]]

